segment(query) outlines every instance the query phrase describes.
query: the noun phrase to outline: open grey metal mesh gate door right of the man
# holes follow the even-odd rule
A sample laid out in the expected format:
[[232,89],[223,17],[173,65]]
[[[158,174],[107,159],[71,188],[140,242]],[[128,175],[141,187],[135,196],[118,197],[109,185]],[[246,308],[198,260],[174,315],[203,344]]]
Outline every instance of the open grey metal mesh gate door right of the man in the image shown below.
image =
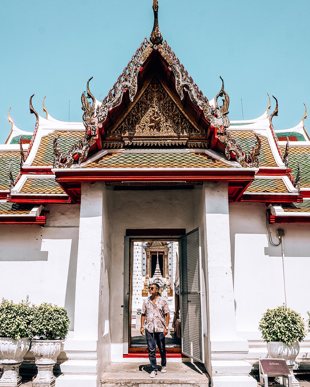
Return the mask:
[[182,353],[204,363],[199,228],[180,238]]

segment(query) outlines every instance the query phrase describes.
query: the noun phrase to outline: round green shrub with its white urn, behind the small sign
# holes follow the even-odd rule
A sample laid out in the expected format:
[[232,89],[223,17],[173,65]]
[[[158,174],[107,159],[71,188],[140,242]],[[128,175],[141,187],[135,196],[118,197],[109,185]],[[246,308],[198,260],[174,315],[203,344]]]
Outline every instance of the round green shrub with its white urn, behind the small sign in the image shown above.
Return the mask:
[[298,384],[293,374],[293,365],[300,350],[299,343],[307,333],[301,315],[286,305],[267,309],[258,328],[267,342],[270,357],[285,359],[291,371],[292,382]]

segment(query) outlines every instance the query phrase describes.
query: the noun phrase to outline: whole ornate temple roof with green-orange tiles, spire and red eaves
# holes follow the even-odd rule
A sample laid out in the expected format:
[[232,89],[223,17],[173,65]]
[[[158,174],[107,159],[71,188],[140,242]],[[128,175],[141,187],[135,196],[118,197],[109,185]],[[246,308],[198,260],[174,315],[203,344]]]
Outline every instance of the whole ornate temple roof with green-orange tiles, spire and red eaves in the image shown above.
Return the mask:
[[0,148],[3,211],[12,217],[21,208],[31,212],[34,204],[78,202],[82,181],[137,187],[225,180],[230,201],[281,203],[283,212],[307,213],[302,205],[310,198],[307,110],[295,127],[274,130],[278,103],[274,98],[269,114],[269,98],[258,118],[230,121],[224,81],[209,101],[163,41],[156,0],[153,11],[150,41],[144,39],[102,102],[88,80],[82,122],[56,120],[44,99],[43,118],[33,108],[33,96],[33,132],[16,128],[9,115],[11,131]]

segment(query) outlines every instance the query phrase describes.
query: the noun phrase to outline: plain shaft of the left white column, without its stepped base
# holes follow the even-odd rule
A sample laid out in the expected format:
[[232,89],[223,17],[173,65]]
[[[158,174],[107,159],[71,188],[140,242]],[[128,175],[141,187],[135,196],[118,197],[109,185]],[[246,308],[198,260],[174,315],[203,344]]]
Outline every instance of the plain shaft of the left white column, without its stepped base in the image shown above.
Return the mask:
[[82,183],[76,268],[74,339],[98,339],[100,264],[103,250],[103,183]]

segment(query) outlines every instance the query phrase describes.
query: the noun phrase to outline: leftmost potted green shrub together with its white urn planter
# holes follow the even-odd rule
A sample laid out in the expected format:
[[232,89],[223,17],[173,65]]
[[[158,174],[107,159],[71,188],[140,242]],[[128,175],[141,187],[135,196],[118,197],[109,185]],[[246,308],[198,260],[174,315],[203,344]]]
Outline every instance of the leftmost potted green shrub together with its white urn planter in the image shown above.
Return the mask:
[[29,351],[29,326],[32,307],[26,301],[14,303],[2,299],[0,303],[0,363],[3,374],[0,386],[12,387],[21,384],[19,366]]

